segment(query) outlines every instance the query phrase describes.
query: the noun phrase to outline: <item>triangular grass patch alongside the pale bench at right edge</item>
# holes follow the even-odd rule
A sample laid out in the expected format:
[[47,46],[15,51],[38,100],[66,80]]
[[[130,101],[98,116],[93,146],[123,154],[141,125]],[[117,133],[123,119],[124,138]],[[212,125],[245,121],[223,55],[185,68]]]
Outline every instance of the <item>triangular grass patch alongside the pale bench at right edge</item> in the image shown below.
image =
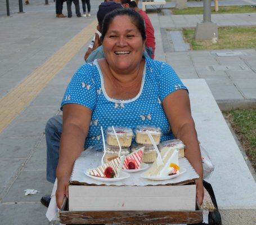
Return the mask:
[[232,110],[223,114],[256,170],[256,110]]

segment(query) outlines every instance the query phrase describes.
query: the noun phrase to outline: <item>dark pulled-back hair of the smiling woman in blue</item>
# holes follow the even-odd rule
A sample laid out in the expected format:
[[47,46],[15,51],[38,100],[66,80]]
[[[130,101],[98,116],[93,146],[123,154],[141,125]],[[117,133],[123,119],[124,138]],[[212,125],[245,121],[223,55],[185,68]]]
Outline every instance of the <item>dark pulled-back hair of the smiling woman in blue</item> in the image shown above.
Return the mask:
[[116,16],[129,16],[131,18],[132,23],[140,31],[142,40],[146,40],[145,22],[140,13],[129,8],[118,8],[117,10],[107,13],[107,15],[104,17],[101,26],[101,42],[103,42],[107,30],[109,30],[109,25],[111,24],[111,22],[113,22]]

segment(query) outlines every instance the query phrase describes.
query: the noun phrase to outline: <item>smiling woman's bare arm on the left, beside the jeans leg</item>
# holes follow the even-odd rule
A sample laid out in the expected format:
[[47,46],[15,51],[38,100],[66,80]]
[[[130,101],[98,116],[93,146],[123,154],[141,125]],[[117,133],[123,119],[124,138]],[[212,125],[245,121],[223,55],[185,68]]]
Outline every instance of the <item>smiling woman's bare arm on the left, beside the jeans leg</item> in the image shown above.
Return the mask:
[[56,170],[58,181],[56,202],[60,208],[64,197],[68,197],[69,179],[74,161],[84,149],[89,125],[91,109],[78,105],[66,104],[63,106],[63,131],[60,142],[60,157]]

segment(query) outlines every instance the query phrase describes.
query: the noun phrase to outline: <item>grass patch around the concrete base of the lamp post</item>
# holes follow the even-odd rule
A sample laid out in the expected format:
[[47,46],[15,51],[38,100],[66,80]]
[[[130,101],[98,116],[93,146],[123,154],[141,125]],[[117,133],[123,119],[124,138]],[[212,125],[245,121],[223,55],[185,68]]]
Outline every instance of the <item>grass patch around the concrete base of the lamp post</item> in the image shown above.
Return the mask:
[[183,35],[191,50],[256,48],[256,27],[218,28],[218,33],[218,42],[213,44],[212,40],[195,40],[195,29],[183,29]]

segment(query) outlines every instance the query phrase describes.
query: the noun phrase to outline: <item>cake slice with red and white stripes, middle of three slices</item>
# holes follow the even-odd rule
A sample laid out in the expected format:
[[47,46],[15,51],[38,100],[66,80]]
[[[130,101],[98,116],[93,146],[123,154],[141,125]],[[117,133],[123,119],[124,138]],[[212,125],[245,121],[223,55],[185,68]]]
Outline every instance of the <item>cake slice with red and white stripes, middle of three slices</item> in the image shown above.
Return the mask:
[[126,156],[124,160],[123,169],[140,169],[144,149],[145,147],[141,147],[140,149]]

